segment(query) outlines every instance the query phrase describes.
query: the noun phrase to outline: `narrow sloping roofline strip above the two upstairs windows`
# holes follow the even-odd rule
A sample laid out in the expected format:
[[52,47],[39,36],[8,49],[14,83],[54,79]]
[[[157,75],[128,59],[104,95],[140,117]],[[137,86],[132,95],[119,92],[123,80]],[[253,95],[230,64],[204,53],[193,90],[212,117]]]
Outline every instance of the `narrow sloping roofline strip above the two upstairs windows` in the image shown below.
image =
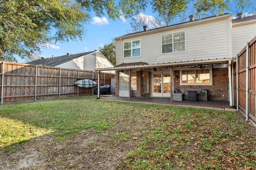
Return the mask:
[[201,19],[196,19],[194,21],[186,21],[186,22],[181,22],[181,23],[176,23],[176,24],[172,24],[172,25],[167,25],[167,26],[164,26],[164,27],[159,27],[159,28],[153,28],[153,29],[149,29],[147,31],[139,31],[139,32],[132,32],[132,33],[127,33],[126,35],[123,35],[123,36],[120,36],[120,37],[116,37],[115,40],[117,39],[120,39],[120,38],[123,38],[123,37],[129,37],[129,36],[132,36],[132,35],[137,35],[137,34],[143,34],[143,33],[150,33],[150,32],[153,32],[153,31],[157,31],[157,30],[164,30],[166,28],[172,28],[172,27],[176,27],[178,25],[182,25],[182,24],[190,24],[190,23],[195,23],[195,22],[198,22],[198,21],[204,21],[204,20],[207,20],[207,19],[213,19],[213,18],[220,18],[221,16],[231,16],[230,13],[223,13],[222,15],[212,15],[212,16],[207,16],[205,18],[201,18]]

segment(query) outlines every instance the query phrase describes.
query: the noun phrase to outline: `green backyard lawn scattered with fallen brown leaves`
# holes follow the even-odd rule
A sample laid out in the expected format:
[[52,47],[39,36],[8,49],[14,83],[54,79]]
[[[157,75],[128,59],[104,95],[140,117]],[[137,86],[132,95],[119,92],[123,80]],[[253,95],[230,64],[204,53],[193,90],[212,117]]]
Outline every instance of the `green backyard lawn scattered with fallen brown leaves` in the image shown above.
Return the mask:
[[[90,131],[93,138],[87,133],[90,129],[94,130]],[[66,143],[65,149],[69,147],[68,143],[76,143],[73,149],[63,151],[66,156],[60,156],[62,152],[59,151],[55,157],[49,158],[54,155],[53,149],[47,145],[49,141],[45,145],[41,141],[41,146],[36,146],[37,151],[49,155],[45,160],[53,161],[47,165],[46,161],[38,164],[50,168],[67,168],[68,161],[73,161],[74,165],[70,166],[70,163],[68,168],[85,168],[82,162],[89,154],[95,149],[108,148],[109,153],[119,149],[118,153],[124,154],[125,159],[115,159],[121,162],[113,164],[118,169],[255,169],[255,132],[253,126],[235,112],[125,103],[97,100],[95,97],[0,107],[0,156],[9,158],[22,151],[22,145],[27,145],[27,149],[35,147],[36,144],[28,145],[26,141],[47,135],[53,136],[51,146]],[[96,135],[97,140],[94,140]],[[94,141],[87,143],[86,147],[77,140],[85,141],[89,136]],[[79,153],[83,160],[76,159],[76,145],[84,147]],[[26,153],[24,149],[22,153]],[[90,160],[98,165],[103,158],[97,159],[95,151],[93,153]],[[104,153],[100,152],[101,155]],[[0,159],[0,167],[11,164],[15,166],[14,161],[7,165]],[[33,168],[34,165],[31,166]]]

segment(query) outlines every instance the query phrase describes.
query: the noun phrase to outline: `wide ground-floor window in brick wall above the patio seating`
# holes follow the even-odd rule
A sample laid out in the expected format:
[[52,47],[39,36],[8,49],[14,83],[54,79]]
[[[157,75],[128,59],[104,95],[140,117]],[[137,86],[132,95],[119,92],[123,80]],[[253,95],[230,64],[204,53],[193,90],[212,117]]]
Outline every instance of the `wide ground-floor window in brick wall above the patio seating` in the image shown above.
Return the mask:
[[181,70],[181,85],[186,84],[212,84],[211,69]]

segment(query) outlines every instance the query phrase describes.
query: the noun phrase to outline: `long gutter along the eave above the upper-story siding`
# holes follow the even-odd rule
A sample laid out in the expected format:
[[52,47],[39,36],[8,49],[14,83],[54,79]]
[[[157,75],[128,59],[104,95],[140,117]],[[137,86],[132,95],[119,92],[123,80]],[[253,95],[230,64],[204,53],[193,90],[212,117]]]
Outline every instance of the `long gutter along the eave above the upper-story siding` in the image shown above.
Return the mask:
[[197,20],[197,21],[193,21],[193,22],[190,21],[190,22],[185,22],[185,23],[173,25],[173,26],[170,25],[170,26],[167,26],[167,27],[152,29],[152,30],[148,30],[148,31],[142,31],[142,32],[134,33],[132,35],[117,37],[117,38],[114,38],[114,39],[115,40],[121,40],[122,38],[137,37],[137,36],[141,36],[141,35],[147,35],[149,33],[161,32],[161,31],[176,29],[176,28],[180,28],[180,27],[186,27],[187,25],[196,25],[196,24],[200,24],[200,23],[204,23],[204,22],[219,20],[219,19],[222,19],[222,18],[230,17],[230,16],[232,16],[232,15],[231,14],[226,14],[226,15],[221,15],[221,16],[215,16],[215,17],[209,18],[209,19]]

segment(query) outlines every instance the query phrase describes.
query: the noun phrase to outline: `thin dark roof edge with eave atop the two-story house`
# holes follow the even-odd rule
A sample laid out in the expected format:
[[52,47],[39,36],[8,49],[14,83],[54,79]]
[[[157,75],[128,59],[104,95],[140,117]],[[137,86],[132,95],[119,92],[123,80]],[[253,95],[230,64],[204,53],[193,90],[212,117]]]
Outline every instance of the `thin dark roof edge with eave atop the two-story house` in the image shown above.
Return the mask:
[[115,39],[119,39],[119,38],[123,38],[123,37],[126,37],[126,36],[131,36],[131,35],[135,35],[135,34],[139,34],[139,33],[142,33],[142,32],[151,32],[151,31],[154,31],[154,30],[161,30],[161,29],[164,29],[164,28],[169,28],[169,27],[174,27],[176,25],[181,25],[181,24],[185,24],[185,23],[193,23],[193,22],[196,22],[196,21],[201,21],[201,20],[206,20],[206,19],[211,19],[211,18],[216,18],[216,17],[219,17],[219,16],[223,16],[223,15],[230,15],[229,13],[224,13],[222,15],[213,15],[213,16],[207,16],[205,18],[201,18],[201,19],[196,19],[194,21],[186,21],[186,22],[181,22],[181,23],[177,23],[177,24],[172,24],[172,25],[168,25],[168,26],[165,26],[165,27],[159,27],[159,28],[154,28],[154,29],[149,29],[147,31],[139,31],[139,32],[133,32],[133,33],[127,33],[126,35],[123,35],[123,36],[120,36],[120,37],[116,37]]

